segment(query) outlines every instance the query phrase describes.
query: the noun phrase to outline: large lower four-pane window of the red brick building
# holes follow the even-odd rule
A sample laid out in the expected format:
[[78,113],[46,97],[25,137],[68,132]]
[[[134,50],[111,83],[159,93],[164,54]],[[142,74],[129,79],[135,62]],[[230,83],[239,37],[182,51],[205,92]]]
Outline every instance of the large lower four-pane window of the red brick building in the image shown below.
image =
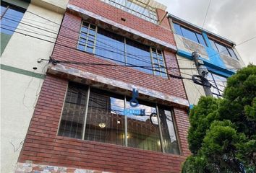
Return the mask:
[[130,100],[69,82],[58,135],[179,154],[171,108],[138,99],[133,112]]

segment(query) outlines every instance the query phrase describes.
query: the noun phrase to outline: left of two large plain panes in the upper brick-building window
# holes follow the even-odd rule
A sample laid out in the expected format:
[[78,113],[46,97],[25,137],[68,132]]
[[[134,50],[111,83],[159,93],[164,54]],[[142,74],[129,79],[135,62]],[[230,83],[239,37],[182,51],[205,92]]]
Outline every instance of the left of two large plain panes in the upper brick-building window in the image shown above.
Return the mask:
[[124,37],[98,28],[95,54],[125,64]]

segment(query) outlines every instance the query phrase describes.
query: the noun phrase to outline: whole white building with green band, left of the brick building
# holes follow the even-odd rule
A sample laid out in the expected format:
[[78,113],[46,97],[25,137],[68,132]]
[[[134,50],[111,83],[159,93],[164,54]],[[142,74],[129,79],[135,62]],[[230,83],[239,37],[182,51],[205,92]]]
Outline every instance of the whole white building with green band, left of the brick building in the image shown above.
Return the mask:
[[67,1],[1,1],[1,172],[14,172]]

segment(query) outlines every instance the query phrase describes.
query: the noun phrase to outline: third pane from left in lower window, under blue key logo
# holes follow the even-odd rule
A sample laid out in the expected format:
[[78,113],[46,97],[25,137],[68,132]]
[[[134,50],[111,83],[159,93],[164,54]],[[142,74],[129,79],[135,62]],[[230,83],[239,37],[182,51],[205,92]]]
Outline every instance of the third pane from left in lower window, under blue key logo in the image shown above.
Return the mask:
[[[127,98],[127,109],[136,109],[139,111],[130,113],[127,111],[128,146],[151,151],[161,151],[159,128],[158,125],[155,125],[158,124],[158,120],[155,117],[152,117],[152,123],[150,120],[150,115],[156,113],[155,106],[139,100],[139,105],[134,108],[129,105],[129,100]],[[145,110],[145,114],[141,110]]]

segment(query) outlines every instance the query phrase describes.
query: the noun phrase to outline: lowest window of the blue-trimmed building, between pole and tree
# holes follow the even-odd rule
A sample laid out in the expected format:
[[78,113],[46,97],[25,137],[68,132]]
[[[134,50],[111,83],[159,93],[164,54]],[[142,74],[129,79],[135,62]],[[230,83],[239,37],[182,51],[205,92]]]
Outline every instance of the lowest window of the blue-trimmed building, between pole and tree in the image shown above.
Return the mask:
[[213,85],[210,88],[213,97],[222,97],[223,91],[226,87],[226,78],[209,72],[208,81]]

